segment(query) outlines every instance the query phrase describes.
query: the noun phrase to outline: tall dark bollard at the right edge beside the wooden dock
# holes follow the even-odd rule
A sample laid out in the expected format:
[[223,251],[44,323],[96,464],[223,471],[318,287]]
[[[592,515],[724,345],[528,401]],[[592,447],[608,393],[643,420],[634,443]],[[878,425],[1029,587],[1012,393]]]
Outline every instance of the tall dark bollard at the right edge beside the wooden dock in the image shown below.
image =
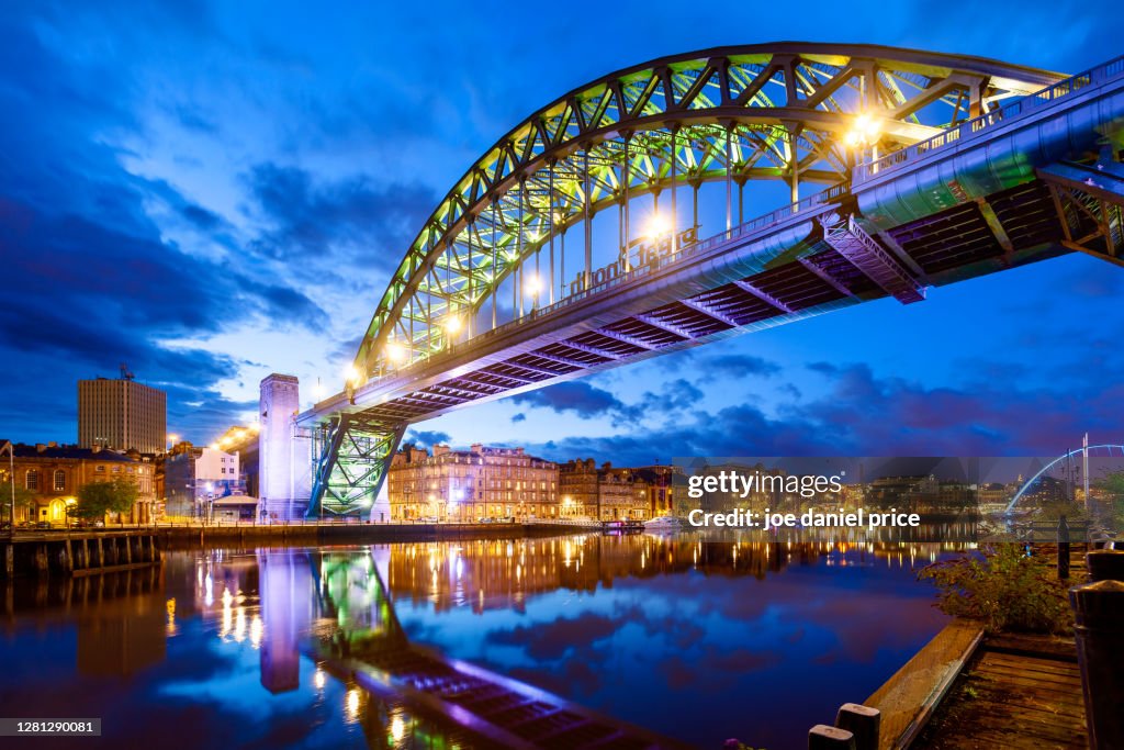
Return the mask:
[[1069,589],[1073,639],[1081,666],[1081,694],[1089,747],[1124,748],[1124,582],[1102,580]]

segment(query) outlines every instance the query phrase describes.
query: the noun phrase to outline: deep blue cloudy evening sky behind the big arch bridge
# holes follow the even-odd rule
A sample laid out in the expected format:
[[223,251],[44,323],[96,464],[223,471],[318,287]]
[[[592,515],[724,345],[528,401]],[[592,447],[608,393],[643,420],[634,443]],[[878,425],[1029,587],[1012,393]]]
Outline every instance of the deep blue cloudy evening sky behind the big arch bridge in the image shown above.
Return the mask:
[[[208,442],[271,371],[338,383],[422,222],[527,114],[608,71],[776,39],[1077,71],[1112,2],[12,4],[0,17],[0,436],[73,441],[127,362]],[[528,11],[533,9],[533,11]],[[556,8],[556,7],[552,7]],[[762,206],[756,215],[774,206]],[[1122,442],[1124,271],[1070,255],[418,425],[550,458],[1040,454]],[[310,396],[308,389],[306,396]]]

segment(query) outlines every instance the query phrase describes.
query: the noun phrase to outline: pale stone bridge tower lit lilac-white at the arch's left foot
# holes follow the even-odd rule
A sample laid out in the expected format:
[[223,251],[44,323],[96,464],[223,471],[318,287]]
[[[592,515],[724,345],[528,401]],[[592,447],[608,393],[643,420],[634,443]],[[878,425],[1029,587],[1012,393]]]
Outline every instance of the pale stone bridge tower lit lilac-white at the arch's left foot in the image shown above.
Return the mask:
[[257,433],[262,508],[270,518],[300,518],[311,494],[311,440],[297,428],[300,381],[273,373],[262,380]]

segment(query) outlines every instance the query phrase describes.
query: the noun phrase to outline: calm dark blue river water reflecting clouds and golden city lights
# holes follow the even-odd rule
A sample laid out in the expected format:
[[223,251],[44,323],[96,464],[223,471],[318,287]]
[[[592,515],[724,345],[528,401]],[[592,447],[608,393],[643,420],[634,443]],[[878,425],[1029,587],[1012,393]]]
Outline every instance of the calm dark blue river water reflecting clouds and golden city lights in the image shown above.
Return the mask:
[[486,747],[339,666],[429,647],[696,747],[803,748],[944,624],[915,580],[940,554],[692,535],[167,552],[9,590],[0,714],[101,717],[118,748]]

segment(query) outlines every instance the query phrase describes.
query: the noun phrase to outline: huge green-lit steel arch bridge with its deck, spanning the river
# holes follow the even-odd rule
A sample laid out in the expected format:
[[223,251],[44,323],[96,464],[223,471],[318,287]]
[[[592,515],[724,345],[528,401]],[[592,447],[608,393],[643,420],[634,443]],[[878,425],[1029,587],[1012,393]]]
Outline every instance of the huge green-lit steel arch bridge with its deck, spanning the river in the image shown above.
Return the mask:
[[[566,93],[453,186],[344,390],[299,415],[309,515],[364,510],[406,426],[454,408],[861,301],[916,302],[927,286],[1069,250],[1121,263],[1122,73],[1121,60],[1066,78],[779,43]],[[1091,189],[1098,156],[1111,169]],[[751,180],[782,181],[790,205],[746,222]],[[706,183],[724,186],[725,231],[699,241]],[[827,189],[801,200],[809,183]],[[642,197],[669,227],[637,227]],[[613,260],[598,268],[595,253]]]

